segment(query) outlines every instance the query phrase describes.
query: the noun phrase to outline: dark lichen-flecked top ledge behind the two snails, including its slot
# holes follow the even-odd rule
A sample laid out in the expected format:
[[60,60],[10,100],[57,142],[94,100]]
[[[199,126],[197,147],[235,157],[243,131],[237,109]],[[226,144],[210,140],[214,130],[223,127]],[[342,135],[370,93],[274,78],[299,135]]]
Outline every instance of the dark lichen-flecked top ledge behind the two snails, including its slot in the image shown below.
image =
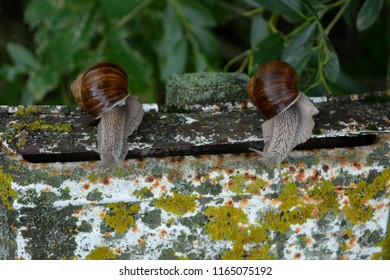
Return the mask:
[[[248,102],[239,104],[201,107],[204,110],[195,106],[180,112],[149,106],[152,109],[148,108],[129,138],[127,158],[241,153],[250,146],[262,149],[264,116]],[[320,113],[314,116],[314,136],[297,149],[367,145],[375,135],[389,133],[390,106],[383,103],[336,99],[316,105]],[[99,159],[77,144],[96,144],[96,125],[77,107],[0,106],[2,138],[32,162]]]

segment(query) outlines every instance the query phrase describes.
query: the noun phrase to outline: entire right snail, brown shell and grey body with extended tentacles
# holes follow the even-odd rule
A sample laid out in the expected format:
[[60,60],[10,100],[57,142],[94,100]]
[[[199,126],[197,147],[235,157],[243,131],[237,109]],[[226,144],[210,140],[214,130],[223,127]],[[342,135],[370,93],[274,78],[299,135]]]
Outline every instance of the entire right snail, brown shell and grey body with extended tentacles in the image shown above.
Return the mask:
[[313,116],[319,113],[297,84],[294,67],[284,61],[271,61],[260,67],[247,87],[252,103],[267,118],[261,125],[264,150],[249,149],[263,156],[264,165],[276,164],[282,182],[281,162],[295,146],[311,137]]

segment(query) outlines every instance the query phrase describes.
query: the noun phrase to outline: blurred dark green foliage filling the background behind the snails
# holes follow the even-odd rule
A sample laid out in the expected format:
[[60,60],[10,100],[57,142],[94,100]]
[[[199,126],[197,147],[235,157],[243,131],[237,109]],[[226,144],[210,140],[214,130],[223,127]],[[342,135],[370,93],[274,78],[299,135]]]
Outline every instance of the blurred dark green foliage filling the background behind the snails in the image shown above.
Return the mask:
[[129,91],[143,102],[163,102],[165,80],[174,73],[253,75],[274,59],[296,67],[300,87],[309,95],[365,91],[362,76],[389,80],[389,0],[25,0],[10,5],[0,4],[2,104],[71,104],[71,82],[102,60],[126,70]]

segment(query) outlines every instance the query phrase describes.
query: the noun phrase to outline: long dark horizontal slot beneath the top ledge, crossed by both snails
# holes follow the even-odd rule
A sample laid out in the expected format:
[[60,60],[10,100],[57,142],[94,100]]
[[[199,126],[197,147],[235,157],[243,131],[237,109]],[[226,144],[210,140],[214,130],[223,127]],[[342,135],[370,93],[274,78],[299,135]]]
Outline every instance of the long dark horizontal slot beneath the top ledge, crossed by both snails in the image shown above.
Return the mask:
[[[376,135],[357,135],[354,137],[326,137],[311,138],[307,142],[298,145],[295,150],[313,150],[313,149],[332,149],[345,147],[358,147],[372,145]],[[205,154],[232,154],[248,153],[249,147],[262,150],[263,142],[246,142],[237,144],[215,144],[204,146],[192,145],[170,145],[160,146],[146,150],[129,151],[126,158],[145,158],[145,157],[168,157],[168,156],[188,156],[188,155],[205,155]],[[23,154],[23,158],[32,163],[49,163],[49,162],[76,162],[99,160],[99,155],[92,151],[62,153],[62,154]]]

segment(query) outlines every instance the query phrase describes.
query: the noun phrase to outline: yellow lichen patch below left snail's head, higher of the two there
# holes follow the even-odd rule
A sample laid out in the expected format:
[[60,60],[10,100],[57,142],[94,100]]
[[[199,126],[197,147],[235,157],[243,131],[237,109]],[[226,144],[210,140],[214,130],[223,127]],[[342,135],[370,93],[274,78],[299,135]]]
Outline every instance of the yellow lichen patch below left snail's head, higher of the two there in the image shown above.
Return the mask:
[[126,233],[134,225],[133,214],[140,210],[136,204],[128,206],[125,203],[110,203],[107,206],[111,211],[106,213],[104,221],[119,234]]

